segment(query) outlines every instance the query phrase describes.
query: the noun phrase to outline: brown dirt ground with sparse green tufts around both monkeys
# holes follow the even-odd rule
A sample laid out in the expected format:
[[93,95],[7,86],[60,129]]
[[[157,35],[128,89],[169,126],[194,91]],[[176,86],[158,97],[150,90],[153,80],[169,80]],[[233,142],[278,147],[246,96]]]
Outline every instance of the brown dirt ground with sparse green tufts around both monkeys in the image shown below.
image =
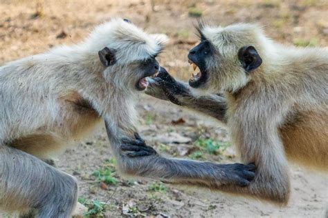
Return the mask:
[[[268,36],[295,46],[328,46],[328,1],[17,1],[0,0],[0,65],[53,46],[73,44],[97,23],[130,19],[170,43],[159,60],[188,78],[188,50],[197,43],[193,23],[258,22]],[[238,161],[228,133],[193,112],[140,95],[140,135],[161,154],[220,163]],[[325,217],[328,177],[291,167],[291,201],[285,208],[220,192],[122,178],[100,127],[63,155],[57,168],[78,178],[86,217]],[[93,214],[93,215],[92,215]],[[0,214],[1,216],[1,214]],[[2,215],[5,216],[5,215]]]

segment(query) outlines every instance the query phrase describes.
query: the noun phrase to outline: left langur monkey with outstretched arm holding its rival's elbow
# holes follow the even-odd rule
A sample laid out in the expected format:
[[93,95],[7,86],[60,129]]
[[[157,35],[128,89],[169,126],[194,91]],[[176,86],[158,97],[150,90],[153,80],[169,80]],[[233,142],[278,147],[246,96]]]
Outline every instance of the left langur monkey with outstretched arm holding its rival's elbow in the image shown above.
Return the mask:
[[163,35],[112,19],[82,43],[0,67],[1,210],[70,217],[77,181],[41,159],[82,139],[102,119],[122,173],[201,186],[249,184],[254,164],[164,158],[136,133],[136,91],[158,73],[164,42]]

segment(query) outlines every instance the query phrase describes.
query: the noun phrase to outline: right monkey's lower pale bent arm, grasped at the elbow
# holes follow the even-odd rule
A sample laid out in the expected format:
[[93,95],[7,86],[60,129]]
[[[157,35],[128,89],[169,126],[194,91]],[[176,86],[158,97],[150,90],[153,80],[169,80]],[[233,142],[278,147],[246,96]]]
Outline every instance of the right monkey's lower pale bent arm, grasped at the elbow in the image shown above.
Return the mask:
[[266,199],[275,204],[287,204],[290,193],[289,170],[274,117],[272,115],[268,120],[268,117],[259,115],[231,121],[231,134],[235,136],[242,161],[255,162],[257,170],[249,186],[225,186],[221,190]]

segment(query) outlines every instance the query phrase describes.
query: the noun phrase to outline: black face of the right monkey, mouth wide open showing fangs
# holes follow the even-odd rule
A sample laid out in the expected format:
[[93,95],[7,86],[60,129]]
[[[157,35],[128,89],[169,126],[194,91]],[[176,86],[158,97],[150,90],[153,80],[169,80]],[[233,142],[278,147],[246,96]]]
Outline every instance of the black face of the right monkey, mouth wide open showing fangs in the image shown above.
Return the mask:
[[211,43],[204,39],[196,47],[192,48],[188,54],[188,62],[196,71],[189,80],[189,85],[192,88],[199,88],[208,81],[208,71],[206,67],[206,59],[213,54]]

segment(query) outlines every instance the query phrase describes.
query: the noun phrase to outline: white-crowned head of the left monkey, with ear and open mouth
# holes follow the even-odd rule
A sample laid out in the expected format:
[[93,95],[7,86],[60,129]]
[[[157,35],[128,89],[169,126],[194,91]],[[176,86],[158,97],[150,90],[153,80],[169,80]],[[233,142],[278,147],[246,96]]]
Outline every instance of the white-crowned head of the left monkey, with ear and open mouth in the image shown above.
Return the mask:
[[145,90],[146,77],[159,69],[156,56],[163,50],[166,36],[147,34],[126,19],[112,19],[90,34],[89,50],[98,52],[102,76],[122,90]]

